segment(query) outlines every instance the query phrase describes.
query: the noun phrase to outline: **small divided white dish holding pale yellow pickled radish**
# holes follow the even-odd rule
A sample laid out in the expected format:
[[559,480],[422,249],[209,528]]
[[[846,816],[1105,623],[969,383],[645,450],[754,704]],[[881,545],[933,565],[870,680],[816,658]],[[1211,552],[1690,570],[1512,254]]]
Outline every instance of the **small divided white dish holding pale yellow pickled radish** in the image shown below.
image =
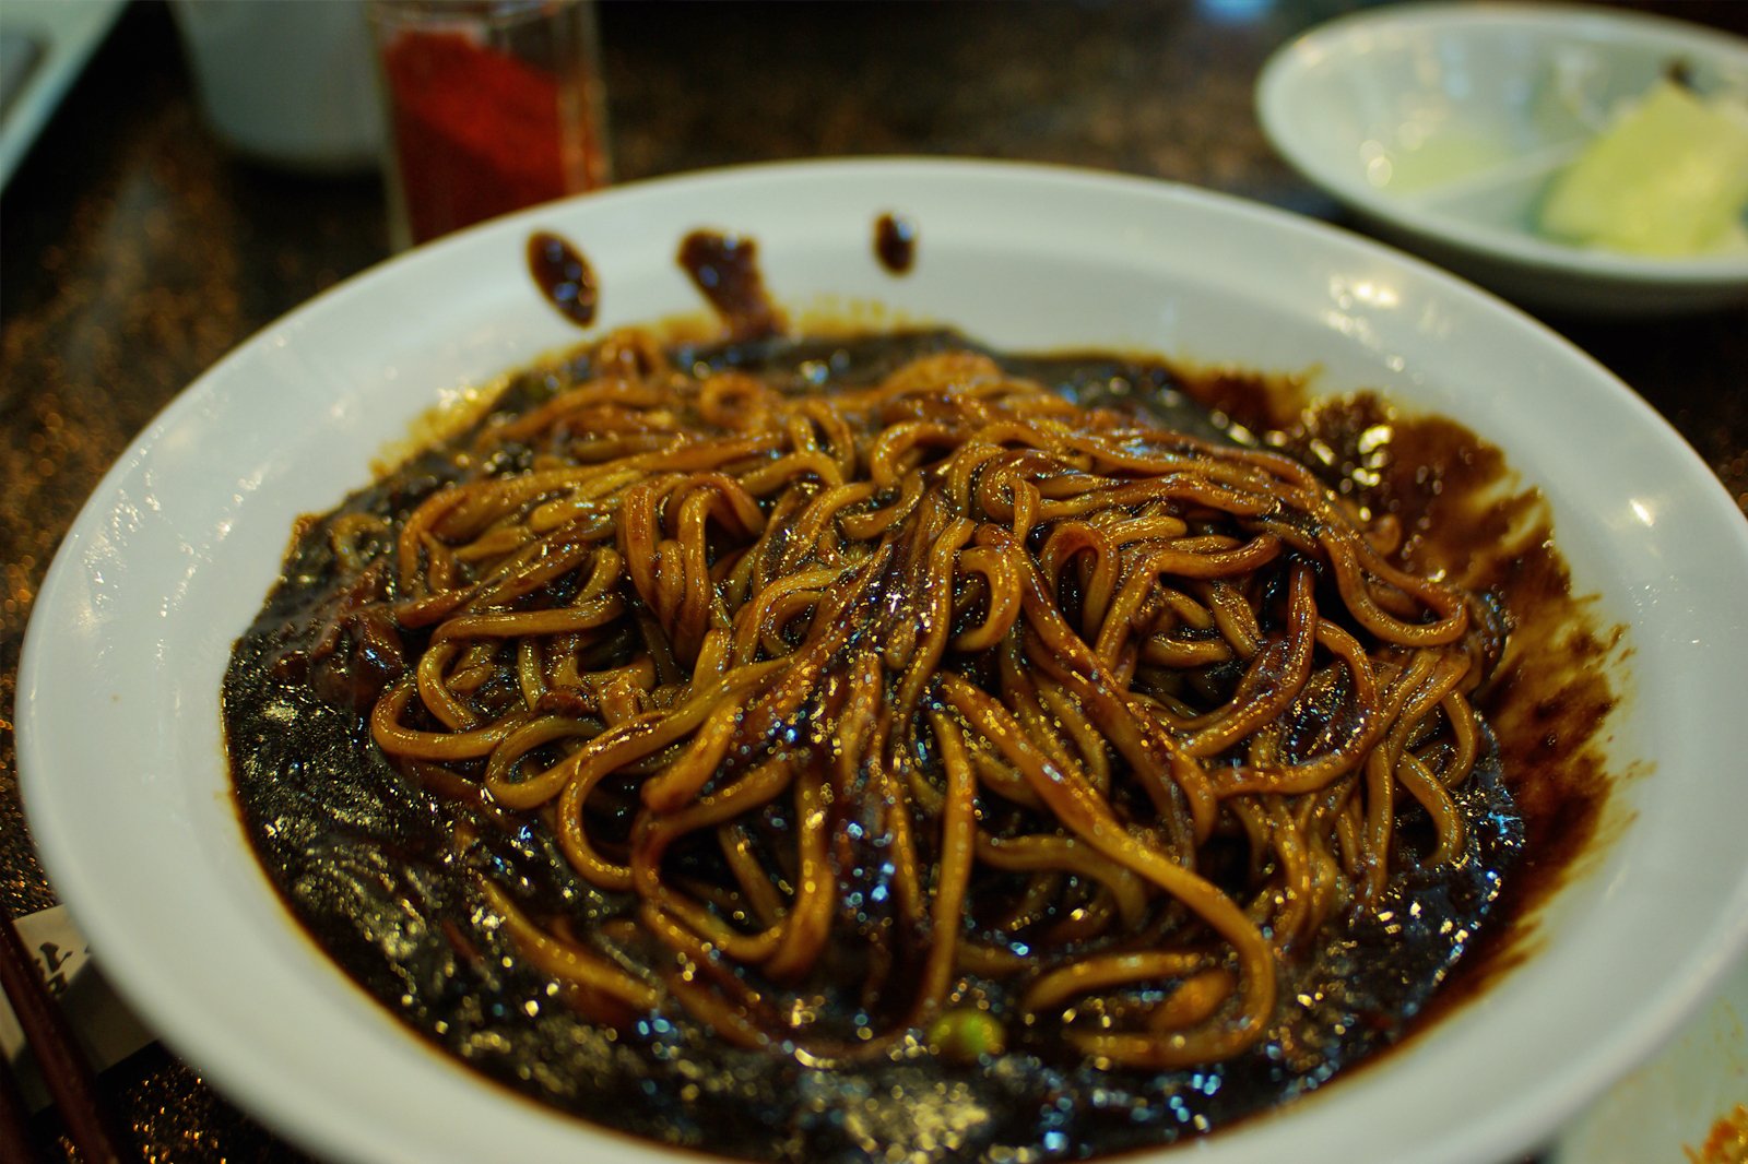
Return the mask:
[[1549,180],[1683,61],[1748,96],[1748,42],[1584,5],[1407,3],[1283,45],[1257,80],[1274,149],[1379,232],[1526,306],[1675,313],[1748,299],[1748,248],[1654,259],[1531,231]]

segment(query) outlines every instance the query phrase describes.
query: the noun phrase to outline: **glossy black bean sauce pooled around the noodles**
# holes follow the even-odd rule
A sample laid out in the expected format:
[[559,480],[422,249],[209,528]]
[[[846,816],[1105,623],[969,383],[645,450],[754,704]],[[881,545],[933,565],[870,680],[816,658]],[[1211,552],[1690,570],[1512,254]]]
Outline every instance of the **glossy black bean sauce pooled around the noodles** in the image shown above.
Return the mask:
[[[741,304],[746,287],[736,280],[746,266],[734,246],[694,236],[687,253],[697,269],[725,273],[715,287],[738,287],[729,299]],[[822,390],[970,346],[940,332],[790,341],[762,330],[757,309],[748,316],[732,304],[729,316],[752,323],[752,337],[680,350],[676,367],[738,367],[792,390]],[[1007,364],[1080,398],[1164,409],[1178,426],[1222,430],[1159,364]],[[587,372],[579,364],[565,379]],[[559,390],[549,374],[526,376],[500,412]],[[397,596],[392,530],[446,481],[477,472],[461,463],[465,444],[467,435],[428,451],[301,528],[283,577],[236,645],[224,720],[248,837],[292,912],[402,1022],[503,1087],[605,1127],[745,1159],[1082,1159],[1197,1136],[1309,1092],[1411,1031],[1465,944],[1498,928],[1495,905],[1519,863],[1524,821],[1495,753],[1458,792],[1465,860],[1435,872],[1405,862],[1377,914],[1332,921],[1320,949],[1283,980],[1267,1038],[1220,1064],[1098,1070],[1061,1045],[1021,1036],[1007,1054],[974,1063],[925,1056],[832,1071],[727,1047],[678,1015],[601,1028],[554,994],[503,932],[479,923],[489,911],[475,869],[524,879],[582,925],[626,902],[579,879],[542,830],[495,813],[467,788],[402,776],[371,743],[374,694],[423,647],[416,633],[399,641],[367,613]],[[514,460],[502,468],[516,468]],[[337,552],[385,565],[346,572],[351,580],[341,584]],[[458,828],[479,837],[465,860],[453,844]],[[1009,987],[977,989],[1000,1003]]]

